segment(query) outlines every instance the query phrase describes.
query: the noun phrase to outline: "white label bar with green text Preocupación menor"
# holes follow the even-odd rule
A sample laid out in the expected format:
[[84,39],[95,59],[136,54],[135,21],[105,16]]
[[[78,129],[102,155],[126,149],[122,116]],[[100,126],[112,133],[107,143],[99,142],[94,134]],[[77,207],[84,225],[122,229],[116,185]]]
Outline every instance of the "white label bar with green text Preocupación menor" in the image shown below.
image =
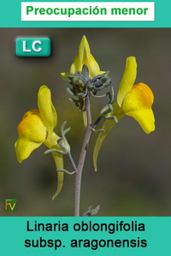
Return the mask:
[[155,21],[155,3],[22,2],[21,21]]

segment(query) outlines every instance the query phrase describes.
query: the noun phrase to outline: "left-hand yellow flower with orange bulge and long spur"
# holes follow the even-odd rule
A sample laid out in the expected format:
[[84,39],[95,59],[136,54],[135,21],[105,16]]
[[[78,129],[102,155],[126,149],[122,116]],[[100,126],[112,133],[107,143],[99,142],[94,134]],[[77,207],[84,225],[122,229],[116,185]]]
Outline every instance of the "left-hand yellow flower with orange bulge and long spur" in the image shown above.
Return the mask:
[[[28,158],[33,150],[43,143],[50,149],[61,149],[57,145],[59,137],[53,132],[57,123],[57,114],[51,102],[51,92],[47,86],[41,86],[38,91],[38,110],[29,110],[22,117],[18,125],[18,140],[15,142],[15,152],[18,161],[21,163]],[[57,169],[63,169],[62,155],[53,152]],[[53,199],[62,190],[63,173],[58,172],[58,186]]]

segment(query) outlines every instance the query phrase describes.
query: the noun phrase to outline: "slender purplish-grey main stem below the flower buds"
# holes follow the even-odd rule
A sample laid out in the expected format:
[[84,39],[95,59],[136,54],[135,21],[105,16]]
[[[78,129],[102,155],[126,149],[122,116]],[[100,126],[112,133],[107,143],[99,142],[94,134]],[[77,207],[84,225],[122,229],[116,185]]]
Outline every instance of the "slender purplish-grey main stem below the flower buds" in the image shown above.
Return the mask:
[[79,217],[80,216],[80,189],[81,189],[81,177],[82,177],[82,170],[85,164],[85,156],[86,156],[86,150],[87,146],[89,144],[90,138],[91,138],[91,108],[90,108],[90,98],[89,94],[85,98],[85,111],[87,115],[87,127],[85,130],[85,137],[83,140],[83,144],[80,151],[80,158],[79,158],[79,164],[77,167],[77,172],[75,173],[75,194],[74,194],[74,216]]

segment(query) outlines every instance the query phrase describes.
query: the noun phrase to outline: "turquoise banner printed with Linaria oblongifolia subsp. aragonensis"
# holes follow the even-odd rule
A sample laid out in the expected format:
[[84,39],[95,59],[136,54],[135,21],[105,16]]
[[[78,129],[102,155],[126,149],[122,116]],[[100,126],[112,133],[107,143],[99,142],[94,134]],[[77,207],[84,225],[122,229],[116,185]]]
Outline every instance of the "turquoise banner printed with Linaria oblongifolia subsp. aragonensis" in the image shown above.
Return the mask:
[[0,224],[6,255],[171,253],[171,217],[1,217]]

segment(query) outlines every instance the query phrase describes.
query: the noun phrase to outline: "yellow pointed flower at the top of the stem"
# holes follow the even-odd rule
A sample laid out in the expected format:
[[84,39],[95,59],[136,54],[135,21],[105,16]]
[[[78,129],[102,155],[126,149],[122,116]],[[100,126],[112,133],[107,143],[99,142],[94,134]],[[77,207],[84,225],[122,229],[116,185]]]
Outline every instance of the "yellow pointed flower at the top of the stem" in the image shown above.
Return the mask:
[[62,73],[62,79],[67,80],[69,74],[75,74],[77,71],[82,72],[83,65],[86,65],[89,69],[89,75],[91,78],[97,74],[103,74],[103,71],[100,71],[98,63],[91,55],[90,46],[88,44],[85,36],[80,41],[79,54],[75,56],[74,63],[71,65],[69,72]]

